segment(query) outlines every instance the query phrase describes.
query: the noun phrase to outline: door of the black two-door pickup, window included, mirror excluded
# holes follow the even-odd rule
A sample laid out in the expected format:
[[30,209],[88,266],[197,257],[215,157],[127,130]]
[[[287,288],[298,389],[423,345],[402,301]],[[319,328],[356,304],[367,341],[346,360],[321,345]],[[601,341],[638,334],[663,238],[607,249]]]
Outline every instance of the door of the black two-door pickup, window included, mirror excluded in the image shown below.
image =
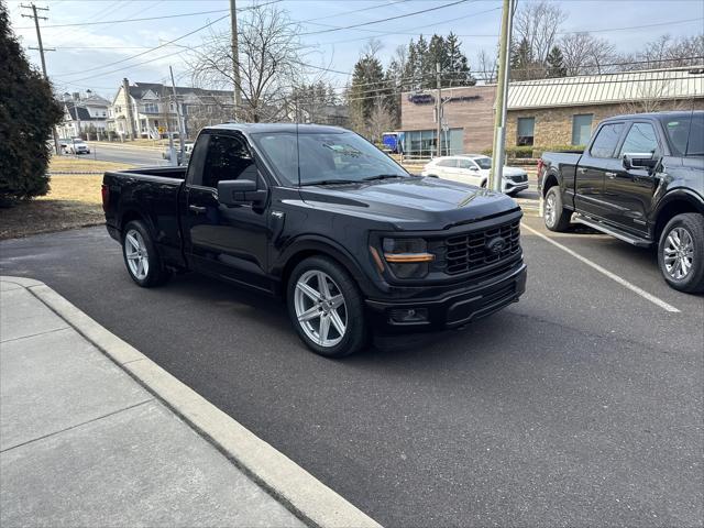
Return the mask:
[[242,134],[202,134],[185,186],[186,255],[200,272],[270,290],[266,215],[250,204],[220,204],[218,182],[226,179],[258,180],[266,188]]

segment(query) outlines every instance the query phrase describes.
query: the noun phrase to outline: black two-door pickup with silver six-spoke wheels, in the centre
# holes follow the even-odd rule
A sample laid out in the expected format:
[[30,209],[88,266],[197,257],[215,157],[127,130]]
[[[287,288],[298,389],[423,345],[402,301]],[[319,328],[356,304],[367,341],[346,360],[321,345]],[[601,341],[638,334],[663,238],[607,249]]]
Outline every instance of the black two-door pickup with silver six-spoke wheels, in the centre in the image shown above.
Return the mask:
[[136,284],[194,270],[279,295],[323,355],[372,329],[461,327],[526,288],[513,199],[411,176],[339,128],[207,128],[188,167],[106,173],[102,199]]

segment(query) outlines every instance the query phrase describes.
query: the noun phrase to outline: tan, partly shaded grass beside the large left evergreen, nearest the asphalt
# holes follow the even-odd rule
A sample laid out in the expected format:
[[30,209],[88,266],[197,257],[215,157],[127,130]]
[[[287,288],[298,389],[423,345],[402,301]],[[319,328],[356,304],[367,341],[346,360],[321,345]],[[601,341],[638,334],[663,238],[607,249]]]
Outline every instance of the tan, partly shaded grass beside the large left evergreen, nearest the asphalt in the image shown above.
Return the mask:
[[101,184],[97,174],[52,177],[48,195],[0,209],[0,240],[103,223]]

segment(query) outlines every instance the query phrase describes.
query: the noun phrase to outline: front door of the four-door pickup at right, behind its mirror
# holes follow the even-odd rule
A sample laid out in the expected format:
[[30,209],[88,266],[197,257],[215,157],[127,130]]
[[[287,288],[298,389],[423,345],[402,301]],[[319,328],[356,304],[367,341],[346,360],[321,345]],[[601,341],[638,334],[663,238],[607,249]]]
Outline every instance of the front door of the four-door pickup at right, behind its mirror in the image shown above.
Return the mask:
[[626,168],[623,157],[624,154],[650,154],[654,158],[661,156],[662,148],[652,123],[634,122],[618,151],[618,167],[607,174],[604,180],[604,200],[608,204],[606,220],[645,234],[648,232],[647,213],[659,179],[652,169]]

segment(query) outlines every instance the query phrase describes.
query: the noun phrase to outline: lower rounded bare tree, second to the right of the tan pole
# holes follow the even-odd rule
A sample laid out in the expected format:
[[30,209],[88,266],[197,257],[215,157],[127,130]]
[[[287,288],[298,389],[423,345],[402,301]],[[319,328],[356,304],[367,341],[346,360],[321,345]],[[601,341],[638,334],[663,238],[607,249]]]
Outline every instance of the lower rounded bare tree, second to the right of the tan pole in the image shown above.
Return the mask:
[[614,46],[590,33],[569,33],[560,40],[566,75],[608,74],[617,68]]

